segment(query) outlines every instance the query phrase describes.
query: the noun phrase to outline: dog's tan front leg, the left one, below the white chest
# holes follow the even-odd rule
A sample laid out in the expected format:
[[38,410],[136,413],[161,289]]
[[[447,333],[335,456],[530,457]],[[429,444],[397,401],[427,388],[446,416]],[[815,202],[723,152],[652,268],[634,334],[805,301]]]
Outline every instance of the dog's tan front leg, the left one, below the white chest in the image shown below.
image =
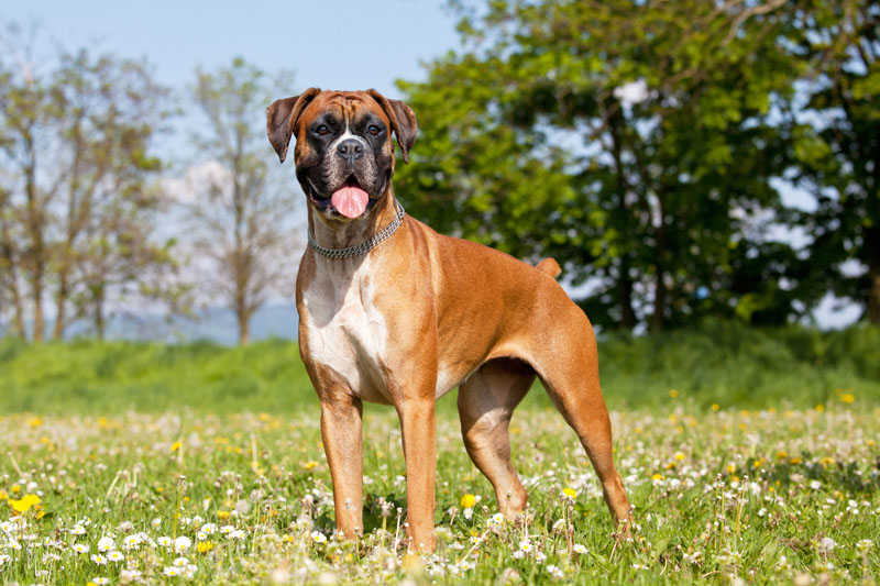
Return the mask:
[[363,403],[348,394],[321,397],[321,438],[333,478],[337,529],[363,532]]

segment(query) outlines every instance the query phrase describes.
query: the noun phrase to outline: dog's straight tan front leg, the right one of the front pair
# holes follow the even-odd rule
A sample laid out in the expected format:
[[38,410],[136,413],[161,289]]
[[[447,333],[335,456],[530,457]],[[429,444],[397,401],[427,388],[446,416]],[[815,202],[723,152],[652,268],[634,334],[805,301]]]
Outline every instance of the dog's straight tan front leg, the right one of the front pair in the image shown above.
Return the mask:
[[437,427],[435,397],[405,399],[397,407],[406,458],[407,537],[409,550],[433,552]]

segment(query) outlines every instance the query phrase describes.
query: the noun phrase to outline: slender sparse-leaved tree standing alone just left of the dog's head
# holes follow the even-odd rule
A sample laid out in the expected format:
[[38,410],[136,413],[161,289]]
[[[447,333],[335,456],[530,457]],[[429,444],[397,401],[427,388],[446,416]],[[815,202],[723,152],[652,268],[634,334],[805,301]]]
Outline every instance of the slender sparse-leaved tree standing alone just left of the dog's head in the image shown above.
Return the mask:
[[263,130],[266,106],[289,86],[289,73],[273,80],[235,58],[213,73],[198,69],[193,89],[204,114],[196,133],[200,158],[221,166],[190,207],[196,247],[212,261],[206,274],[209,294],[235,313],[241,344],[250,340],[254,312],[270,295],[289,288],[295,273],[286,237],[293,190],[270,176],[272,151]]

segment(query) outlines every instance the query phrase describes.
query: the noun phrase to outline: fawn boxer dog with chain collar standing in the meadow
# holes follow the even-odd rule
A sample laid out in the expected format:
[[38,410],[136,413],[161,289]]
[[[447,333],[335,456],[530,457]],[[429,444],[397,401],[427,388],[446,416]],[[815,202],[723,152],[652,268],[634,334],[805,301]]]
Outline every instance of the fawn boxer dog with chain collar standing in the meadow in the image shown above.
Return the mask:
[[435,402],[459,386],[468,454],[515,517],[526,489],[510,462],[508,424],[535,377],[578,433],[624,529],[629,502],[614,468],[593,329],[557,283],[493,248],[438,234],[394,197],[394,143],[405,163],[413,110],[375,90],[275,101],[267,132],[282,163],[296,139],[309,247],[297,277],[299,350],[321,405],[337,528],[363,530],[362,401],[397,410],[406,458],[411,550],[433,551]]

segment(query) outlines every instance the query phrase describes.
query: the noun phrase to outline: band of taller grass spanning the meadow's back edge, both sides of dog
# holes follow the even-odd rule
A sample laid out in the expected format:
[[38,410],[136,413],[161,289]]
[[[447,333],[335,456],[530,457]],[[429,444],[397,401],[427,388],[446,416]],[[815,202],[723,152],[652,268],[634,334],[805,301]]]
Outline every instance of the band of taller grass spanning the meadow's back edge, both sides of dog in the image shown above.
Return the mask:
[[[603,392],[615,409],[666,405],[671,389],[682,405],[700,408],[814,407],[842,394],[880,402],[880,332],[870,327],[821,332],[706,321],[657,335],[612,333],[600,338],[598,347]],[[539,384],[526,405],[550,408]],[[2,412],[184,408],[279,413],[317,408],[317,399],[290,342],[240,349],[210,343],[0,343]],[[441,410],[454,408],[452,397],[441,401]]]

